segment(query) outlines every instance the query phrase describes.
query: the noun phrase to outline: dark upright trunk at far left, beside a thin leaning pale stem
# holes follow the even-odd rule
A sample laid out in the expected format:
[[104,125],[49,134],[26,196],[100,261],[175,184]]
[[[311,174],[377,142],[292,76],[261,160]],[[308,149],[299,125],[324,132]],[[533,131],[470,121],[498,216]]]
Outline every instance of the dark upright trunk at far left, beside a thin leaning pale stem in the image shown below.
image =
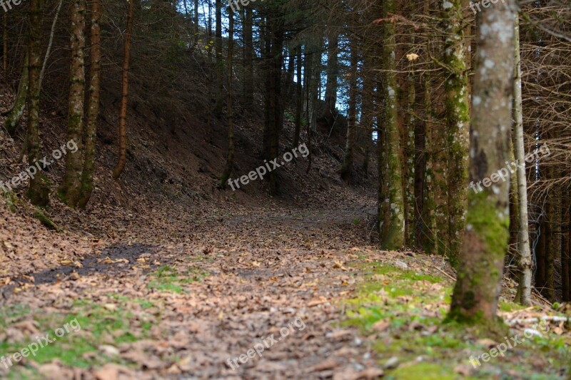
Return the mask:
[[[29,163],[39,162],[40,157],[40,70],[41,70],[41,32],[44,14],[44,0],[30,0],[28,41],[28,108],[26,146]],[[49,181],[42,173],[30,180],[27,196],[36,206],[46,206],[49,202]]]

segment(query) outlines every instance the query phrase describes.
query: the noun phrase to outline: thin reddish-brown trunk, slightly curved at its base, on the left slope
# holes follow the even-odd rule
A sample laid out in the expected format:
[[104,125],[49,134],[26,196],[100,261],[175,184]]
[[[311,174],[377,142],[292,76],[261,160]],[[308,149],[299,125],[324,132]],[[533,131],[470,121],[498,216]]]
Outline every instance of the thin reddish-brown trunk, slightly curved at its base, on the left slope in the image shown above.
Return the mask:
[[127,31],[123,52],[123,78],[121,79],[121,110],[119,111],[119,159],[113,169],[113,178],[121,177],[127,162],[127,106],[129,101],[129,58],[131,58],[131,37],[135,18],[135,0],[128,0]]

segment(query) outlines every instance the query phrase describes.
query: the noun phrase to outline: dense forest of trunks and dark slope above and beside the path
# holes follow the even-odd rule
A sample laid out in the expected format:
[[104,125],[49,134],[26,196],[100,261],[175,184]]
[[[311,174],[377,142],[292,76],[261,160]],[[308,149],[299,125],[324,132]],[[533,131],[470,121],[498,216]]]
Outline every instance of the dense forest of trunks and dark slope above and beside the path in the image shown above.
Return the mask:
[[[443,317],[496,336],[500,299],[571,301],[567,1],[2,4],[4,202],[89,234],[60,263],[100,238],[253,247],[269,212],[288,220],[268,237],[282,247],[333,249],[346,233],[443,260],[456,278]],[[70,141],[76,151],[11,181]],[[233,234],[244,220],[257,227]],[[333,230],[303,235],[315,220]],[[3,222],[18,226],[9,241],[29,219]],[[6,278],[48,256],[24,255]]]

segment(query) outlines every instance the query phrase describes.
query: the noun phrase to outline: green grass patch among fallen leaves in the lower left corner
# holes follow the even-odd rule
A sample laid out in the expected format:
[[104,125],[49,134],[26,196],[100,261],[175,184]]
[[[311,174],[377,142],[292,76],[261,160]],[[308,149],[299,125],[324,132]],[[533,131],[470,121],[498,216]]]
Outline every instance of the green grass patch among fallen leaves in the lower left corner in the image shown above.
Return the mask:
[[[118,294],[109,294],[108,300],[111,302],[98,304],[92,299],[77,299],[69,314],[35,314],[38,335],[45,337],[49,333],[49,339],[54,342],[46,344],[40,339],[44,347],[41,347],[34,357],[30,356],[30,359],[39,364],[59,359],[68,366],[80,368],[101,366],[110,361],[131,365],[119,357],[107,357],[98,351],[98,347],[103,344],[119,346],[141,339],[151,339],[151,328],[160,320],[159,309],[145,299],[132,299]],[[146,312],[133,314],[133,309],[137,307]],[[0,333],[29,314],[29,307],[24,305],[0,309]],[[60,328],[63,328],[62,332],[65,333],[57,337],[56,330]],[[19,352],[34,342],[37,342],[35,335],[27,336],[21,342],[0,342],[0,357]],[[26,364],[12,366],[9,378],[39,379],[41,376]]]

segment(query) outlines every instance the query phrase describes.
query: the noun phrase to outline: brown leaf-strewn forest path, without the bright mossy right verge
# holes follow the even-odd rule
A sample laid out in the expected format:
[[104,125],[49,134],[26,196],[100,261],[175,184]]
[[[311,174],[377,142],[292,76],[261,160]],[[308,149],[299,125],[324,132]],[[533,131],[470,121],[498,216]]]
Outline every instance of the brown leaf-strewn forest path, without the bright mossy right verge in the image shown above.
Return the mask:
[[73,319],[81,330],[0,371],[54,379],[373,379],[380,370],[368,339],[341,323],[343,299],[358,282],[355,265],[386,259],[369,246],[370,213],[223,215],[191,242],[115,245],[34,273],[1,306],[0,342],[25,347]]

